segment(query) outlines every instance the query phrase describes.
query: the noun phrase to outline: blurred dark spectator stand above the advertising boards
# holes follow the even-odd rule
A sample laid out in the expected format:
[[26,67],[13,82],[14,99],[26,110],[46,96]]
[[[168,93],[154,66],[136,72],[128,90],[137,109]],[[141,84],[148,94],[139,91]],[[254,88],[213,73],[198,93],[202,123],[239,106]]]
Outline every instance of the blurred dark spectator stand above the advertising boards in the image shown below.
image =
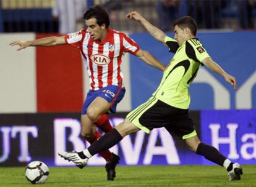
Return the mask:
[[[2,0],[0,28],[4,33],[58,33],[61,17],[66,16],[66,22],[76,17],[80,22],[84,10],[94,4],[105,6],[111,26],[122,31],[145,31],[125,21],[125,15],[132,10],[164,31],[170,31],[174,20],[183,15],[194,17],[200,29],[248,30],[254,29],[256,22],[255,0]],[[70,15],[72,12],[74,15]]]

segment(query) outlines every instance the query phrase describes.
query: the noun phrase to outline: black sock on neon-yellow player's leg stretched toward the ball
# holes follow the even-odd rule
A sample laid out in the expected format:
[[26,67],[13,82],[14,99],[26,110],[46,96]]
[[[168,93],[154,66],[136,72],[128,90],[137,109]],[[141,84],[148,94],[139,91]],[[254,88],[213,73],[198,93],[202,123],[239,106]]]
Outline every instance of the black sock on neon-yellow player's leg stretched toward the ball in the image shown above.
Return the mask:
[[88,147],[88,151],[93,156],[96,153],[100,153],[101,151],[112,148],[121,140],[121,134],[116,129],[113,129],[109,133],[105,133],[103,137],[100,137],[98,140],[94,141],[92,145]]

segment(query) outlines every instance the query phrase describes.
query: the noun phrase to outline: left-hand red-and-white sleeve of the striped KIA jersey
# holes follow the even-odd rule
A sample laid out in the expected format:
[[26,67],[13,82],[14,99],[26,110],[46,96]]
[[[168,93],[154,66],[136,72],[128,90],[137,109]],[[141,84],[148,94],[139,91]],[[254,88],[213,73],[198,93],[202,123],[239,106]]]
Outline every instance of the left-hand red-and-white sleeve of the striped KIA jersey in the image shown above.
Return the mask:
[[82,45],[82,41],[85,34],[86,34],[85,30],[80,30],[75,33],[66,34],[64,38],[67,44],[74,47],[80,47]]

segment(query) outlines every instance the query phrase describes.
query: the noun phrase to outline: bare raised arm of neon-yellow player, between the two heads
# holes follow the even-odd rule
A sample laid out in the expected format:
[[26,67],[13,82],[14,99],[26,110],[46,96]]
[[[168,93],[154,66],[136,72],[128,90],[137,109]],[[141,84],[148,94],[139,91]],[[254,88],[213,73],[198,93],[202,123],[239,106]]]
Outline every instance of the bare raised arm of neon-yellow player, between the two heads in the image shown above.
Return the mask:
[[126,15],[127,20],[136,20],[137,22],[140,22],[147,30],[148,32],[158,41],[163,43],[165,46],[164,38],[166,37],[166,34],[164,34],[163,31],[161,31],[159,28],[156,28],[153,26],[148,20],[142,17],[138,12],[133,11]]

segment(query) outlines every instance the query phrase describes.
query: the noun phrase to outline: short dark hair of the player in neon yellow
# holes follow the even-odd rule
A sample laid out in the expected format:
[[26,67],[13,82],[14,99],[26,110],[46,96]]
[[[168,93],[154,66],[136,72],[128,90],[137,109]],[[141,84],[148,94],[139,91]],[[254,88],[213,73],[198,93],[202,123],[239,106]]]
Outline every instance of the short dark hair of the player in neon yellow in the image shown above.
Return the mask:
[[179,20],[174,22],[173,27],[176,25],[179,26],[179,28],[181,28],[182,30],[184,30],[185,28],[189,28],[189,30],[191,31],[192,34],[194,34],[194,36],[195,34],[197,34],[197,23],[190,16],[184,16],[179,18]]

